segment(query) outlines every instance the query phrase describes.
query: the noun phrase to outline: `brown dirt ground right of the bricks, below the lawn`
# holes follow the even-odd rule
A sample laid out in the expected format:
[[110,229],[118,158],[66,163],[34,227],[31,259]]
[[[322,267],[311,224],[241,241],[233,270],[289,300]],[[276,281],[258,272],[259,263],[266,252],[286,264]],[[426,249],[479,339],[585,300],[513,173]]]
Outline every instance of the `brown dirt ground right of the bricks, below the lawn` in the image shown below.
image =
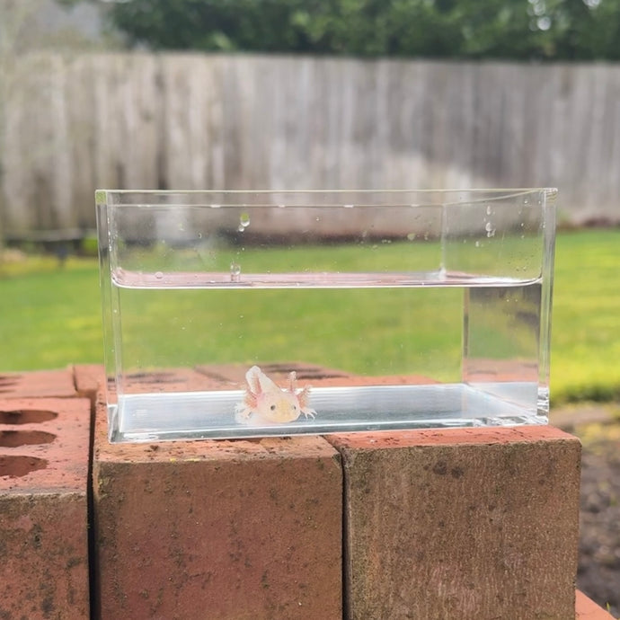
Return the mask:
[[577,587],[620,618],[620,404],[552,413],[581,439]]

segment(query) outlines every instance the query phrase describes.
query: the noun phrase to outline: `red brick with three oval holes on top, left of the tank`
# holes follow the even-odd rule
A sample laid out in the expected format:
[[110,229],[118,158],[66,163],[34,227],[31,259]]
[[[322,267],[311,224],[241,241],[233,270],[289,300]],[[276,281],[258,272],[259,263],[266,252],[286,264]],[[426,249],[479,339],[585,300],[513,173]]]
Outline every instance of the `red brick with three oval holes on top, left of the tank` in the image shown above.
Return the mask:
[[89,617],[84,399],[0,401],[0,617]]

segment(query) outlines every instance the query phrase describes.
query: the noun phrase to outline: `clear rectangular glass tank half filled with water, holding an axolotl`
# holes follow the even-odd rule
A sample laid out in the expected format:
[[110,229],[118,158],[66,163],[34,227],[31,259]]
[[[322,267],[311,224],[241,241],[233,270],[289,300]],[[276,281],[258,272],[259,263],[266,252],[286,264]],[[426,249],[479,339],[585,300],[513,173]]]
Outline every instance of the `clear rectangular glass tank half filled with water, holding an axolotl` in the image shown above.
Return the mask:
[[546,423],[555,197],[97,191],[111,441]]

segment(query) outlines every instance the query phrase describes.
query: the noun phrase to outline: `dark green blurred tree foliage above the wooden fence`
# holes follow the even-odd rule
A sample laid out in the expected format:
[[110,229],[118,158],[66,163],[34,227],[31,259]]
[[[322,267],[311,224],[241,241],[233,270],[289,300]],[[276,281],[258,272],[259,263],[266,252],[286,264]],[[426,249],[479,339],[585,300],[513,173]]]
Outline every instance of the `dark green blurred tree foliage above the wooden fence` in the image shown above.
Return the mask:
[[620,0],[117,0],[109,16],[150,49],[620,58]]

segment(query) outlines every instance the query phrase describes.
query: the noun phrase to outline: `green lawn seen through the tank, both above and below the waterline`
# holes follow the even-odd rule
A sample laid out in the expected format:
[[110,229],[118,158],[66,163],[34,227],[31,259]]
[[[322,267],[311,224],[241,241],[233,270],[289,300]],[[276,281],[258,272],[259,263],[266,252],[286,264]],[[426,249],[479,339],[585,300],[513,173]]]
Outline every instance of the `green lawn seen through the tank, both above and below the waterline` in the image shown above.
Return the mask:
[[[174,252],[172,264],[165,248],[134,252],[135,268],[154,264],[166,270],[224,272],[232,262],[244,273],[306,271],[432,270],[440,264],[440,246],[433,242],[403,245],[360,244],[257,249],[221,247],[212,256],[191,250]],[[404,250],[404,251],[403,251]],[[410,263],[403,264],[403,255]],[[412,263],[415,261],[415,264]],[[456,380],[460,368],[462,292],[429,288],[423,303],[413,303],[404,289],[245,289],[170,291],[121,289],[123,312],[121,354],[124,366],[183,366],[188,364],[245,364],[302,360],[360,374],[426,373]],[[443,307],[449,300],[452,312]],[[417,331],[412,325],[429,325]],[[411,349],[401,346],[410,332]],[[413,334],[412,332],[418,332]],[[153,338],[154,333],[161,334]],[[425,352],[434,349],[434,355]]]

